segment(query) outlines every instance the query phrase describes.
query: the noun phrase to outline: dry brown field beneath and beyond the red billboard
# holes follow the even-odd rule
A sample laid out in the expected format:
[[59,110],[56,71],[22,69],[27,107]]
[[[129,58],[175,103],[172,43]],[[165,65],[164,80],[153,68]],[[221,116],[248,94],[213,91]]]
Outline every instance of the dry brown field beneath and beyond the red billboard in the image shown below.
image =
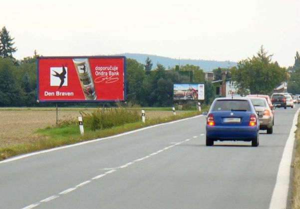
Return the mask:
[[[79,111],[91,112],[92,108],[58,108],[58,119],[77,118]],[[184,111],[176,111],[178,115]],[[146,119],[167,117],[173,111],[146,110]],[[56,125],[55,108],[0,108],[0,147],[39,140],[33,134],[39,128]]]

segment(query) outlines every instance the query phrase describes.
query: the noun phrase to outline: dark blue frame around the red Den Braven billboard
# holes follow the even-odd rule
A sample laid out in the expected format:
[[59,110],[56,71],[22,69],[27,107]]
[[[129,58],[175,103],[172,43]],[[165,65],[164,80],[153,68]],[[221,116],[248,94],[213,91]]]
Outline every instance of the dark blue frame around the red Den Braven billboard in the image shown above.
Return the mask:
[[[124,60],[124,80],[123,80],[123,92],[124,99],[119,100],[39,100],[39,59],[56,59],[56,58],[123,58]],[[126,56],[38,56],[36,57],[36,101],[38,103],[63,103],[63,102],[118,102],[126,100]]]

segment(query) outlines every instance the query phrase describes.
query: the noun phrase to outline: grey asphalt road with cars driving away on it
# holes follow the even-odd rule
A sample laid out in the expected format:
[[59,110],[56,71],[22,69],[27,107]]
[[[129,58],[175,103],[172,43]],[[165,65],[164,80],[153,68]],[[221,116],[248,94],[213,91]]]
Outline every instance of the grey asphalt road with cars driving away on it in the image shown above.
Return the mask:
[[205,146],[205,116],[0,163],[0,208],[269,208],[296,108],[260,145]]

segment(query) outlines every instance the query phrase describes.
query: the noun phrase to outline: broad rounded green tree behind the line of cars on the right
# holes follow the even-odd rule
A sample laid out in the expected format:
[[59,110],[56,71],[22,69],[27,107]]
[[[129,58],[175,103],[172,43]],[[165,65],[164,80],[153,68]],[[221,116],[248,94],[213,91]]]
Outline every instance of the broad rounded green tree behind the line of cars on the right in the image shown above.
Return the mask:
[[238,88],[238,92],[252,94],[270,94],[282,81],[288,79],[285,68],[272,62],[272,56],[267,55],[264,47],[258,51],[257,56],[238,62],[238,67],[231,69],[232,81]]

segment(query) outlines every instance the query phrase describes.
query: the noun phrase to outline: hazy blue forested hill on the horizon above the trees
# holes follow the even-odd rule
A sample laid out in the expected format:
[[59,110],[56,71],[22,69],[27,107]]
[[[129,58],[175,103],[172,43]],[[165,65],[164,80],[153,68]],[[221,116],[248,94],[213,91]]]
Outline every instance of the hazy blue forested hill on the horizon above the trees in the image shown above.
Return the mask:
[[[153,67],[154,68],[157,63],[160,63],[164,65],[166,68],[168,66],[174,67],[175,65],[186,65],[186,64],[193,64],[196,66],[200,66],[201,69],[204,71],[212,71],[215,68],[218,67],[228,67],[228,61],[215,61],[215,60],[197,60],[197,59],[173,59],[170,57],[165,56],[157,56],[157,55],[151,55],[151,54],[140,54],[140,53],[121,53],[121,54],[114,54],[114,55],[122,55],[126,56],[127,58],[136,59],[138,62],[145,64],[146,58],[149,56],[149,58],[152,60]],[[230,61],[230,66],[236,66],[237,62]]]

